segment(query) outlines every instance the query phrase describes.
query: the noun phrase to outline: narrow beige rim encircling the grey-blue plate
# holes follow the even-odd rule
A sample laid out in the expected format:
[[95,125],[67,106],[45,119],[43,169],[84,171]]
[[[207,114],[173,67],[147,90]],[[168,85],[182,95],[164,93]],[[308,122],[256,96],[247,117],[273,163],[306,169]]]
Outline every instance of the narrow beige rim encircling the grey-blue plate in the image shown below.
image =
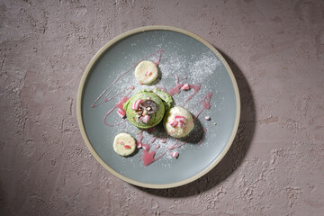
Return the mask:
[[[133,179],[130,179],[124,175],[119,174],[118,172],[116,172],[115,170],[112,169],[111,166],[108,166],[101,157],[99,157],[99,155],[95,152],[90,140],[87,138],[86,132],[85,132],[85,126],[84,126],[84,122],[83,122],[83,118],[82,118],[82,98],[83,98],[83,94],[84,94],[84,87],[85,87],[85,81],[86,78],[89,76],[90,71],[92,69],[92,67],[94,67],[94,63],[96,62],[96,60],[98,60],[99,58],[101,58],[101,56],[103,55],[103,53],[109,49],[113,44],[115,44],[116,42],[129,37],[130,35],[139,33],[139,32],[144,32],[144,31],[175,31],[175,32],[179,32],[179,33],[183,33],[184,35],[190,36],[195,40],[198,40],[200,42],[202,42],[203,45],[205,45],[207,48],[211,49],[211,51],[218,57],[220,58],[221,63],[224,65],[224,67],[226,68],[231,83],[233,85],[234,88],[234,93],[235,93],[235,97],[236,97],[236,105],[237,105],[237,109],[236,109],[236,119],[234,122],[234,127],[233,130],[231,132],[231,135],[229,137],[228,142],[225,145],[225,148],[220,152],[220,156],[217,157],[209,166],[205,167],[201,172],[185,179],[179,182],[175,182],[175,183],[171,183],[171,184],[147,184],[147,183],[141,183],[139,181],[135,181]],[[132,29],[130,31],[125,31],[123,33],[121,33],[120,35],[114,37],[112,40],[108,41],[101,49],[99,49],[99,51],[97,51],[94,55],[94,57],[90,60],[90,62],[88,63],[87,67],[85,67],[85,72],[81,77],[81,81],[80,84],[78,86],[78,90],[77,90],[77,98],[76,98],[76,116],[77,116],[77,123],[82,135],[82,138],[85,141],[85,145],[86,147],[90,150],[90,152],[92,153],[92,155],[94,156],[94,158],[106,169],[108,170],[112,175],[117,176],[118,178],[120,178],[121,180],[130,183],[130,184],[134,184],[140,187],[146,187],[146,188],[154,188],[154,189],[166,189],[166,188],[172,188],[172,187],[177,187],[177,186],[181,186],[184,184],[189,184],[191,182],[193,182],[194,180],[202,177],[202,175],[206,175],[208,172],[211,171],[211,169],[218,165],[220,163],[220,160],[226,155],[226,153],[229,151],[229,148],[231,147],[233,140],[237,134],[238,131],[238,123],[239,123],[239,118],[240,118],[240,98],[239,98],[239,92],[238,92],[238,84],[237,81],[235,79],[235,76],[232,72],[232,70],[229,67],[229,64],[227,63],[227,61],[225,60],[225,58],[222,57],[222,55],[220,54],[220,52],[215,49],[207,40],[202,39],[202,37],[194,34],[193,32],[190,31],[186,31],[180,28],[176,28],[176,27],[172,27],[172,26],[166,26],[166,25],[150,25],[150,26],[143,26],[143,27],[139,27],[136,29]]]

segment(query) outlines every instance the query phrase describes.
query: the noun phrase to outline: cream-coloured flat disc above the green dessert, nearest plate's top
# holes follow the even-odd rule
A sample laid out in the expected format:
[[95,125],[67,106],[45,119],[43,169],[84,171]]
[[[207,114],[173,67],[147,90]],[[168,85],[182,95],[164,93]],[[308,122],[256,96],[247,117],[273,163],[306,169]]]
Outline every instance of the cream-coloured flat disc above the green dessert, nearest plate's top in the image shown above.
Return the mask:
[[140,85],[149,85],[157,79],[157,65],[151,61],[141,61],[135,68],[135,77]]

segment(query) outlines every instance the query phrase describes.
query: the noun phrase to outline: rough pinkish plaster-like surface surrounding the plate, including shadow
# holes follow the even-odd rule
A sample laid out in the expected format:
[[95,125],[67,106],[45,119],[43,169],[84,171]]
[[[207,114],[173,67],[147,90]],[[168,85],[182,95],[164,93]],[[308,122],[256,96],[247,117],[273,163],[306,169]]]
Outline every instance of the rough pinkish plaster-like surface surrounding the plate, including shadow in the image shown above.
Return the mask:
[[[1,1],[1,215],[321,215],[323,14],[320,0]],[[76,122],[77,87],[94,53],[151,24],[210,41],[242,100],[220,165],[168,190],[108,173]]]

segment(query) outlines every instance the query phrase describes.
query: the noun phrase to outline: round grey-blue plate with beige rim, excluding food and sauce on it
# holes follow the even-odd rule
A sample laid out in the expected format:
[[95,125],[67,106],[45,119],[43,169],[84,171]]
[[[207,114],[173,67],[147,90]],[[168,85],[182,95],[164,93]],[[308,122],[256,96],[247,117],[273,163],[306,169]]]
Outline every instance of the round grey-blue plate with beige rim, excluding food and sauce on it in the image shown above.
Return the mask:
[[[139,85],[134,76],[136,65],[143,59],[157,61],[159,53],[158,83]],[[112,148],[114,137],[120,132],[128,132],[138,139],[139,129],[122,120],[117,109],[108,115],[106,121],[111,124],[123,123],[115,127],[107,126],[103,123],[105,114],[128,92],[132,95],[145,87],[175,87],[175,76],[184,84],[201,85],[193,99],[184,104],[184,108],[193,115],[202,110],[204,95],[213,93],[211,109],[204,110],[195,121],[195,128],[207,130],[202,143],[191,140],[181,148],[166,151],[176,139],[167,138],[166,143],[163,143],[163,139],[156,139],[150,144],[151,149],[160,146],[156,150],[156,157],[165,151],[166,154],[149,166],[143,165],[142,149],[131,157],[117,155]],[[92,107],[96,98],[110,85],[112,87],[107,91],[110,96],[107,98],[115,97],[105,102],[103,95],[96,103],[99,105]],[[134,86],[133,91],[130,90],[131,86]],[[193,90],[175,94],[175,104],[182,105],[191,94]],[[187,184],[209,172],[229,150],[238,130],[239,113],[238,85],[220,52],[189,31],[167,26],[127,31],[108,42],[86,67],[77,95],[79,127],[95,159],[122,180],[148,188]],[[211,120],[206,121],[206,116],[210,116]],[[143,135],[146,143],[152,141],[154,136],[148,131],[144,131]],[[174,151],[179,153],[177,158],[171,156]]]

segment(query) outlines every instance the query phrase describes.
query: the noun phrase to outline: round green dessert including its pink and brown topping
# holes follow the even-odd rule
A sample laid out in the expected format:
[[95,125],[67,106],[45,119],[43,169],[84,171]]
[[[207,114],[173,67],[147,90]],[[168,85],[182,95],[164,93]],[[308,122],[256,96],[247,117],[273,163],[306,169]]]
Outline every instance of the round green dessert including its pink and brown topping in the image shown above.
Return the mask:
[[134,126],[148,129],[157,125],[165,114],[165,103],[152,91],[144,89],[123,104],[127,119]]

